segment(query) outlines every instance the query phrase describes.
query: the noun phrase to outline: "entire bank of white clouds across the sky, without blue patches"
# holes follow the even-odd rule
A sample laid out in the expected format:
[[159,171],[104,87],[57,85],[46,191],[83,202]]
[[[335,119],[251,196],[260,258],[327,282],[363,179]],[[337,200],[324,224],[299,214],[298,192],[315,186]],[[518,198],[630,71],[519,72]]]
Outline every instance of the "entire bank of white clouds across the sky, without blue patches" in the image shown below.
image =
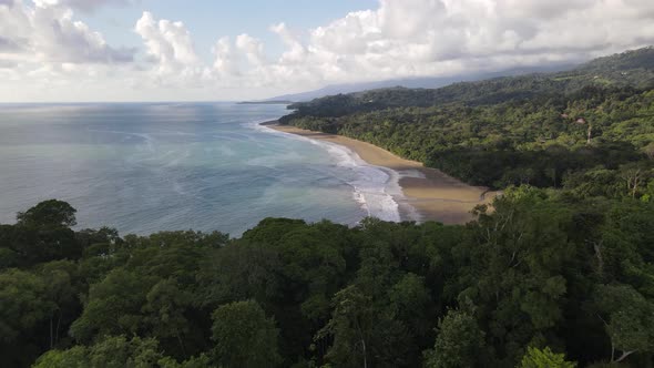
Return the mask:
[[651,0],[380,0],[315,29],[273,24],[285,45],[276,55],[251,34],[216,34],[212,60],[200,57],[181,21],[144,12],[132,30],[143,41],[135,50],[108,44],[74,17],[127,2],[0,0],[0,76],[63,84],[104,78],[131,91],[174,88],[181,99],[191,90],[219,99],[222,91],[287,92],[290,82],[302,90],[578,62],[654,43]]

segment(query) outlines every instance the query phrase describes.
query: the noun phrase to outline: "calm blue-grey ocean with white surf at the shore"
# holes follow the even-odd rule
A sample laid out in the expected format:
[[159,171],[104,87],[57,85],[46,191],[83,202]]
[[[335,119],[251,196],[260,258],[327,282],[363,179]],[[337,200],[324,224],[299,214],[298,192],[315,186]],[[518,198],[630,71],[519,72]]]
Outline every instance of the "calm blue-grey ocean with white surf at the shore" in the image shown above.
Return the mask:
[[219,231],[265,217],[399,221],[396,173],[349,150],[259,123],[284,105],[0,105],[0,223],[40,201],[78,209],[78,228]]

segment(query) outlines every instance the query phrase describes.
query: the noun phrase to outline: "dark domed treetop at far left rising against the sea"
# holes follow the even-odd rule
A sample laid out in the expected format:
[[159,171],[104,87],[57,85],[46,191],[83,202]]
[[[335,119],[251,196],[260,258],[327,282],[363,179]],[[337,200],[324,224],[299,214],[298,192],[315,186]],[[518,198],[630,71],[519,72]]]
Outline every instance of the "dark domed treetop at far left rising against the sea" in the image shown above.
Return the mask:
[[63,201],[49,200],[16,216],[19,225],[71,227],[78,224],[78,211]]

